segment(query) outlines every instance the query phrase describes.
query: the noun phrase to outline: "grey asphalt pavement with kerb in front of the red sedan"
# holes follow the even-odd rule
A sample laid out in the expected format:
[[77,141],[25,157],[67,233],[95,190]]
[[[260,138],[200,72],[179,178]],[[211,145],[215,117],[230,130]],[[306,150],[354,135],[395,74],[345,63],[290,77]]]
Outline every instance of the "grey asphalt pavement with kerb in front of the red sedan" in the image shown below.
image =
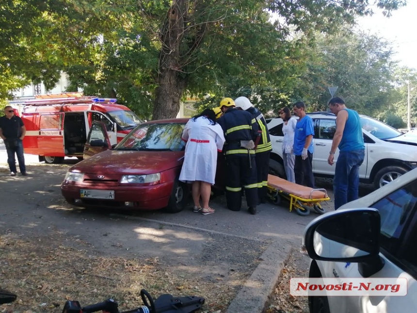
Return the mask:
[[[262,204],[256,215],[248,213],[245,203],[240,212],[232,212],[226,208],[224,196],[211,200],[216,212],[210,215],[193,213],[191,201],[189,209],[177,214],[84,210],[67,204],[60,191],[65,172],[77,159],[45,165],[37,156],[25,158],[29,176],[10,177],[0,141],[0,235],[8,232],[28,237],[55,230],[90,243],[104,255],[158,257],[170,266],[202,266],[202,271],[209,263],[210,275],[225,277],[231,266],[240,266],[252,276],[231,303],[230,313],[262,311],[291,249],[300,249],[305,226],[318,216],[289,212],[286,202]],[[316,183],[333,197],[328,180]],[[322,206],[333,210],[332,201]],[[245,267],[251,261],[249,251],[262,253],[256,269]]]

